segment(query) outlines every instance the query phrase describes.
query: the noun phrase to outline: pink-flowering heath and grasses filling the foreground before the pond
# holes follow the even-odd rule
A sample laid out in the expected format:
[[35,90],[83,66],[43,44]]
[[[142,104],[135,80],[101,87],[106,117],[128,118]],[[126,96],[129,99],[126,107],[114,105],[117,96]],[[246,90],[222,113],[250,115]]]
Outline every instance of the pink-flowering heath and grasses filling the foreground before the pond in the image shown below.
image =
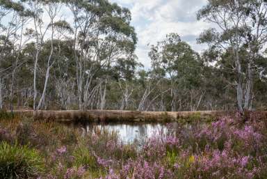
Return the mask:
[[0,178],[267,178],[267,119],[256,113],[131,144],[98,128],[1,118],[0,143]]

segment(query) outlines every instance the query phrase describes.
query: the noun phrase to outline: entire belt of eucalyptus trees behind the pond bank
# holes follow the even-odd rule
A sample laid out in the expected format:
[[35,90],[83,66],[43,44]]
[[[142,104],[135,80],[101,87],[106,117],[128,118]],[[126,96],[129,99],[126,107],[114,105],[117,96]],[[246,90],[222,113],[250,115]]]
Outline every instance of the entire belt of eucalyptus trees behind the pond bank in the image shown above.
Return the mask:
[[[195,52],[176,33],[138,63],[129,9],[106,0],[0,1],[0,108],[267,108],[267,1],[209,0]],[[160,27],[159,27],[160,28]]]

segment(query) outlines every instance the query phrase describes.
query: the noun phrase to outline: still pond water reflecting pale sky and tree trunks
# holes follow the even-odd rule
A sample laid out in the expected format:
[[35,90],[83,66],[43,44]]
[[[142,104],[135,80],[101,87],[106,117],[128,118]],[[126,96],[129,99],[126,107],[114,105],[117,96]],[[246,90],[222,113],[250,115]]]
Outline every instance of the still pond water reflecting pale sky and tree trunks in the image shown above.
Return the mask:
[[85,132],[92,132],[95,127],[108,132],[118,132],[118,136],[124,143],[131,143],[135,139],[145,140],[160,132],[168,132],[168,126],[175,123],[79,123],[74,127],[82,127]]

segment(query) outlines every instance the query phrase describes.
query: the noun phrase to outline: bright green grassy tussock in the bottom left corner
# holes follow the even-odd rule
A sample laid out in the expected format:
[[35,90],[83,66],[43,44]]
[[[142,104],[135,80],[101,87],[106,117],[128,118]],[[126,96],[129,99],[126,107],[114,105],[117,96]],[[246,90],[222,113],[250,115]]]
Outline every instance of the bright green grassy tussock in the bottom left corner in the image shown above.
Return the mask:
[[44,163],[36,150],[28,146],[0,144],[0,178],[34,178],[42,173]]

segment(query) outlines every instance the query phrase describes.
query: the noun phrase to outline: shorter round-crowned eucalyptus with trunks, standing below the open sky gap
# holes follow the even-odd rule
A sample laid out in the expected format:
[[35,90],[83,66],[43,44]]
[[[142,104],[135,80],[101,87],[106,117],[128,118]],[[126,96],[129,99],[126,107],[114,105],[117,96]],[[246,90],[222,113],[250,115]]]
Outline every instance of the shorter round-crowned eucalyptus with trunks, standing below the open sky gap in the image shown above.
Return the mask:
[[[170,33],[165,40],[158,42],[156,46],[152,46],[149,56],[152,59],[154,70],[170,81],[171,110],[177,111],[177,101],[183,98],[181,96],[183,88],[192,97],[188,100],[191,101],[191,110],[197,109],[204,95],[204,92],[198,94],[197,96],[200,96],[200,99],[197,105],[193,105],[193,100],[195,100],[193,97],[196,91],[191,91],[191,88],[200,84],[203,65],[197,52],[194,52],[186,42],[181,41],[178,34]],[[183,91],[183,93],[186,93],[186,91]]]

